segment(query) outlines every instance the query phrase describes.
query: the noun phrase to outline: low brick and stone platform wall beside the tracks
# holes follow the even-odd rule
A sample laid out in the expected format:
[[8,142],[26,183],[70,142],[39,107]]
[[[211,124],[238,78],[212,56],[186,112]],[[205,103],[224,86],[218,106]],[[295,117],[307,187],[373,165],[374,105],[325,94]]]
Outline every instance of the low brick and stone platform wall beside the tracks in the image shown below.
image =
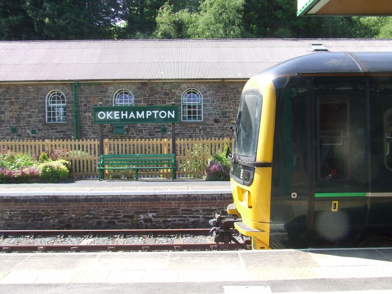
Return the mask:
[[231,194],[0,196],[0,230],[208,228]]

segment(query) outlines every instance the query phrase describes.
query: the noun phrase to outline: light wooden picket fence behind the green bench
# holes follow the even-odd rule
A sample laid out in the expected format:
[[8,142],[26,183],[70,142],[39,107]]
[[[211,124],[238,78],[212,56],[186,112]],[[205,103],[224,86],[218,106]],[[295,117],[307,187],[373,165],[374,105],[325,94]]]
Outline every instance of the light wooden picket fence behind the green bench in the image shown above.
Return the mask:
[[[207,161],[212,154],[230,146],[230,139],[177,139],[176,175],[178,178],[202,178]],[[104,140],[104,154],[167,154],[172,153],[172,141],[168,139]],[[42,152],[53,158],[71,162],[71,176],[76,178],[98,177],[98,140],[25,140],[0,141],[0,153],[8,151],[30,153],[36,158]],[[142,172],[141,177],[157,177],[159,171]],[[116,177],[117,172],[110,172]]]

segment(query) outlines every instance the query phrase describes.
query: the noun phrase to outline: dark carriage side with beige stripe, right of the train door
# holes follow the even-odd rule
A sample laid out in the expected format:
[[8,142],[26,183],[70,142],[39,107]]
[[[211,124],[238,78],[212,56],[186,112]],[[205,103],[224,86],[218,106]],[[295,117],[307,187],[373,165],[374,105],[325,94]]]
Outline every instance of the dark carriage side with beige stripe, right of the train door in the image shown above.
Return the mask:
[[[392,245],[392,78],[369,80],[370,189],[363,246]],[[379,238],[374,238],[379,237]]]

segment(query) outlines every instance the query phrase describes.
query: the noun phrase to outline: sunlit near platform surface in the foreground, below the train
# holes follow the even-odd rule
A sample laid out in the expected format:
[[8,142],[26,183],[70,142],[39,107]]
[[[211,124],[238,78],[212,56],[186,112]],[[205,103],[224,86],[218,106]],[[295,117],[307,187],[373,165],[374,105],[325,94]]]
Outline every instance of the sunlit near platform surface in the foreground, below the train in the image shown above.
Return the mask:
[[[263,294],[278,293],[269,285],[293,281],[297,281],[298,287],[284,292],[300,290],[299,285],[303,282],[309,287],[311,281],[319,281],[316,285],[323,287],[323,291],[336,291],[336,284],[342,281],[351,285],[350,291],[358,292],[367,290],[360,283],[368,279],[366,285],[369,286],[378,279],[372,290],[392,292],[391,277],[392,248],[0,254],[0,289],[9,289],[4,286],[16,284],[40,287],[43,284],[87,285],[85,287],[89,287],[88,284],[128,284],[127,293],[145,293],[144,287],[150,287],[151,283],[162,284],[162,289],[168,285],[182,287],[179,283],[212,283],[221,285],[221,290],[209,292],[206,289],[200,293],[229,294],[235,287],[242,287],[242,294],[247,294],[253,293],[252,287],[256,287],[253,290]],[[322,286],[322,281],[334,283],[330,283],[328,289],[328,284]],[[246,288],[247,292],[245,285],[253,286]],[[268,286],[266,292],[261,291],[264,288],[260,285]],[[175,287],[172,287],[172,293],[177,293]],[[156,293],[162,292],[157,290]]]

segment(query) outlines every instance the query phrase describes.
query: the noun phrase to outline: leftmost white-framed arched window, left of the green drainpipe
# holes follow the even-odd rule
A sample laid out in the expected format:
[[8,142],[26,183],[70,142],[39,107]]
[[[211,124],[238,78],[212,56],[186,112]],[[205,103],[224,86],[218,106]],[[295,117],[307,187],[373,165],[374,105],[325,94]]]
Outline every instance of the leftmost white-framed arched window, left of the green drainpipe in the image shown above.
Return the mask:
[[63,92],[53,90],[46,97],[46,122],[67,122],[67,100]]

